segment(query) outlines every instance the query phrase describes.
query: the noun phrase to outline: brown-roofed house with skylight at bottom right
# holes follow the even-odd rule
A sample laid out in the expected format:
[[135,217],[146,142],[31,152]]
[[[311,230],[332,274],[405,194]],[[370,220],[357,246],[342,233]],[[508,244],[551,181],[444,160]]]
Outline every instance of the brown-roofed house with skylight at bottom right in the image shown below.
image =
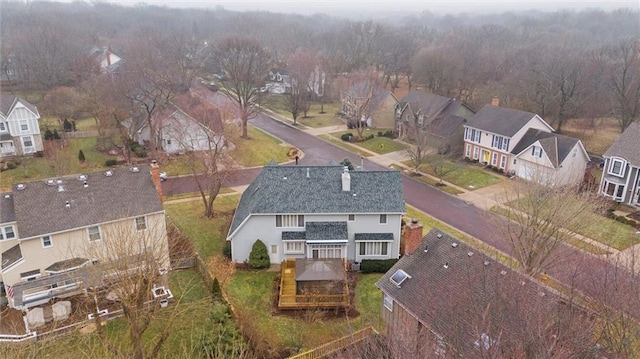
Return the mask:
[[394,358],[541,357],[592,335],[581,308],[437,228],[376,286]]

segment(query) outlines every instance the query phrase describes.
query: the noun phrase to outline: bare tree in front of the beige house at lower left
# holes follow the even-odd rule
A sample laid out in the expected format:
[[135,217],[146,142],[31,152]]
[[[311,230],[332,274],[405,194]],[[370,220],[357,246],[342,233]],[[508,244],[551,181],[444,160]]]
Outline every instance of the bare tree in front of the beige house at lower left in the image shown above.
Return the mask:
[[[160,311],[158,296],[165,287],[169,266],[169,252],[163,215],[141,217],[135,225],[130,222],[102,226],[99,241],[88,243],[82,257],[91,258],[94,265],[88,267],[89,281],[94,289],[96,302],[94,312],[98,337],[103,346],[118,358],[156,358],[171,333],[171,322],[177,311],[164,320],[159,334],[151,345],[145,343],[144,334]],[[106,296],[104,296],[104,294]],[[165,294],[166,292],[162,292]],[[122,309],[128,341],[118,341],[107,335],[99,315],[100,305],[105,301],[117,303]]]

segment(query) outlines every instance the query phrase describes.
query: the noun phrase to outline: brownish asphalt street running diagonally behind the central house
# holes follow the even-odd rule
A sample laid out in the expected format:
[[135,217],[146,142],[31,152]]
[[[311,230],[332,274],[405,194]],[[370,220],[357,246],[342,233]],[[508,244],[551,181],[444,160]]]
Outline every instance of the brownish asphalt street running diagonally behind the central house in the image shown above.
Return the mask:
[[[324,140],[300,131],[288,124],[274,120],[264,114],[259,114],[251,123],[282,139],[283,141],[301,149],[305,156],[299,165],[326,165],[329,161],[340,161],[349,158],[352,163],[360,164],[361,158],[340,147],[331,145]],[[389,170],[374,162],[363,159],[366,170]],[[236,171],[227,179],[225,186],[239,186],[251,183],[260,172],[260,168]],[[408,176],[402,176],[402,184],[406,203],[417,209],[463,231],[494,248],[505,253],[511,253],[510,246],[502,240],[500,230],[496,224],[500,220],[495,215],[469,205],[461,199],[442,192],[436,188],[416,181]],[[165,194],[194,192],[197,190],[190,177],[169,178],[163,185]],[[619,270],[609,262],[585,254],[572,247],[562,247],[561,260],[549,272],[551,276],[579,288],[583,293],[602,298],[609,295],[605,286],[614,285],[611,274],[615,272],[615,285],[618,288],[628,287],[638,283],[637,278],[629,272]],[[603,279],[606,278],[606,279]],[[637,287],[636,289],[637,290]],[[638,307],[632,309],[638,311]]]

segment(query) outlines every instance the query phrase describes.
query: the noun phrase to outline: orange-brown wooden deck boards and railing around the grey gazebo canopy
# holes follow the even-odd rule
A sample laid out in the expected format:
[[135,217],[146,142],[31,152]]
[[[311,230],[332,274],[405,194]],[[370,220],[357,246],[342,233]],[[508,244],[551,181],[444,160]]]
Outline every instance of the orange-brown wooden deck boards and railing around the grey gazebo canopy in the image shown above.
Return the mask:
[[342,294],[296,294],[296,261],[282,262],[278,309],[330,309],[349,307],[349,286],[343,284]]

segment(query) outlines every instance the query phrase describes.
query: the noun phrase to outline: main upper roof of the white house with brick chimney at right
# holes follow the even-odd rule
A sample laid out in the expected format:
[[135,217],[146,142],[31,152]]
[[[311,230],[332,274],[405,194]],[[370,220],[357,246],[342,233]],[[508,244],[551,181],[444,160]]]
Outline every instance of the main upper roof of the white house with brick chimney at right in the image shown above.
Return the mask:
[[[476,112],[469,120],[467,127],[511,137],[520,131],[520,129],[535,116],[537,115],[531,112],[484,105],[480,111]],[[542,120],[542,122],[544,122],[544,120]],[[553,128],[546,122],[544,122],[544,124],[548,126],[549,131],[553,131]]]

